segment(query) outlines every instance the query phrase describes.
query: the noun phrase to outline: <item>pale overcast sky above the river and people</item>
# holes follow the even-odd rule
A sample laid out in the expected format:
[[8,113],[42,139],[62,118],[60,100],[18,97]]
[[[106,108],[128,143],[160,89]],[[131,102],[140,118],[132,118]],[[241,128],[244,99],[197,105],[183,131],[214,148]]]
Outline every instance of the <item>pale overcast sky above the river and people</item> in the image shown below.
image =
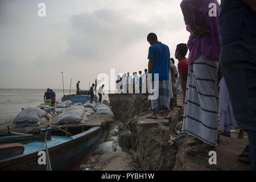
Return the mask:
[[[0,88],[88,89],[100,73],[144,72],[147,35],[187,43],[180,0],[0,0]],[[46,17],[39,17],[39,3]],[[175,59],[175,65],[177,60]]]

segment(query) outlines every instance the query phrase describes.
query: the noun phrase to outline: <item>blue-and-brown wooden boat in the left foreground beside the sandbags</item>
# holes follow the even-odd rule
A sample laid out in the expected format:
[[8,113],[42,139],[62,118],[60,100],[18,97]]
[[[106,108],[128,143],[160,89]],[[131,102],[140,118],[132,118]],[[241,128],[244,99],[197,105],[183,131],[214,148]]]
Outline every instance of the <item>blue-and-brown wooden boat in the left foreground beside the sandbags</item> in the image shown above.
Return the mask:
[[[68,169],[73,164],[79,162],[88,152],[92,150],[97,140],[102,133],[102,126],[90,127],[89,130],[73,135],[72,137],[63,137],[52,135],[50,140],[47,140],[47,148],[51,167],[53,170]],[[13,136],[0,137],[0,139],[10,138]],[[22,138],[24,136],[16,136]],[[8,145],[8,144],[7,144]],[[14,146],[14,144],[10,144]],[[45,170],[46,164],[39,164],[39,151],[46,151],[44,142],[28,142],[22,144],[24,152],[17,155],[9,156],[0,159],[0,170]],[[1,148],[1,147],[0,147]],[[5,148],[6,147],[5,145]],[[11,147],[10,147],[11,148]],[[10,149],[9,148],[9,149]],[[10,154],[10,151],[9,151]]]

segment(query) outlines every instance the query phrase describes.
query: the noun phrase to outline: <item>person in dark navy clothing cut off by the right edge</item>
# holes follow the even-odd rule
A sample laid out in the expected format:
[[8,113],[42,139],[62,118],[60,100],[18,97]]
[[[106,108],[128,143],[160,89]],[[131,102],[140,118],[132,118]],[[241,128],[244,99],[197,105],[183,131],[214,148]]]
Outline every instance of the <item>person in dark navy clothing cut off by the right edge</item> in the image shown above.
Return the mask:
[[220,64],[237,125],[247,131],[256,170],[256,1],[221,1]]

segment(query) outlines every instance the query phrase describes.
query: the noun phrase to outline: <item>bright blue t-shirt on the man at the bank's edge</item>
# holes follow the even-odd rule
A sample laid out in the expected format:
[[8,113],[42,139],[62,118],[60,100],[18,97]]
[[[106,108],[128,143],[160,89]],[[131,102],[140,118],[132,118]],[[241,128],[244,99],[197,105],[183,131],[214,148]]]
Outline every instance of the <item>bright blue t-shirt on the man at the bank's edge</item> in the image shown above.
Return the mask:
[[159,80],[169,80],[168,63],[170,57],[169,47],[161,42],[156,42],[148,49],[148,59],[154,60],[152,78],[154,73],[159,74]]

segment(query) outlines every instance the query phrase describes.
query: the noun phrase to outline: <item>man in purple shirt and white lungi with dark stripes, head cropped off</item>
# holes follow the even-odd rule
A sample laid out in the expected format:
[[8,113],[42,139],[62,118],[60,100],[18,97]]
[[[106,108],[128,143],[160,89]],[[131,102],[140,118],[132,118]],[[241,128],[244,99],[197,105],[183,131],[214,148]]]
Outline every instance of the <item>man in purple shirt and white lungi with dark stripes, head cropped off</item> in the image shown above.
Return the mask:
[[218,131],[220,6],[216,0],[183,0],[180,7],[191,33],[187,44],[189,68],[182,132],[197,138],[188,154],[208,156],[216,146]]

